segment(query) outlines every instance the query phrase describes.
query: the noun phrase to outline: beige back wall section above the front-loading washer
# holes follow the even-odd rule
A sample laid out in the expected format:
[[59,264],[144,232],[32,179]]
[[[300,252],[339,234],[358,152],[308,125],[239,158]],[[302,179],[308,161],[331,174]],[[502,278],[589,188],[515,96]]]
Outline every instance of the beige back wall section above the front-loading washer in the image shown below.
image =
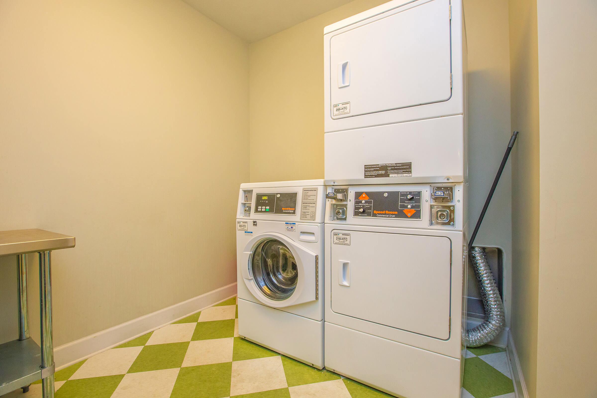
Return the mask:
[[250,45],[251,181],[324,178],[324,27],[356,0]]

